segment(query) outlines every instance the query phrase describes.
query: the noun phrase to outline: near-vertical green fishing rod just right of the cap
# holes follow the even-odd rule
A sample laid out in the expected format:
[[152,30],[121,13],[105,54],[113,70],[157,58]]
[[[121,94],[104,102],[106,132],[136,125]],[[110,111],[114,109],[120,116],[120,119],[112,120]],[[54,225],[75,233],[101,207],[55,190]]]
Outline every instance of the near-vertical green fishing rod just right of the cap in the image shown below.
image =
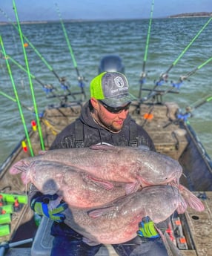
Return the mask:
[[147,73],[145,72],[145,66],[146,66],[146,62],[148,59],[148,47],[149,47],[149,42],[150,42],[150,31],[151,31],[151,24],[152,24],[152,19],[153,19],[153,9],[154,9],[154,0],[152,1],[151,10],[150,10],[150,21],[149,21],[148,36],[147,36],[146,46],[145,46],[145,56],[144,56],[143,67],[142,67],[142,76],[139,80],[139,82],[140,82],[139,99],[141,99],[142,86],[145,83],[145,79],[147,77]]

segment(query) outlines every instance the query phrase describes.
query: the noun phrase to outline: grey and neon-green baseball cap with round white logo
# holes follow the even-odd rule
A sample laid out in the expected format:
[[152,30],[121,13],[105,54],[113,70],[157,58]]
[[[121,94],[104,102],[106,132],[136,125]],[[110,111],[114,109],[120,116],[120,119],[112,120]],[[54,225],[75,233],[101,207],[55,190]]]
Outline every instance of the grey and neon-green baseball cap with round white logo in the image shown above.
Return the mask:
[[123,73],[103,72],[90,82],[90,96],[117,108],[136,99],[128,92],[128,81]]

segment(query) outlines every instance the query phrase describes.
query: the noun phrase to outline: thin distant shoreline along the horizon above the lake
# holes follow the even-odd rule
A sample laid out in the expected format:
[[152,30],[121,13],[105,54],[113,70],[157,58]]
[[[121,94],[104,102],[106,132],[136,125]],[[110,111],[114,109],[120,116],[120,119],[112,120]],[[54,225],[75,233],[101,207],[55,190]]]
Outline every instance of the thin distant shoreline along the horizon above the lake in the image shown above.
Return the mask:
[[[173,19],[173,18],[202,18],[202,17],[212,17],[212,13],[208,12],[199,12],[199,13],[179,13],[176,15],[170,15],[167,17],[161,17],[161,18],[154,18],[154,19]],[[118,20],[123,20],[123,19],[117,19]],[[64,22],[96,22],[98,20],[94,19],[68,19],[64,20]],[[100,20],[102,22],[107,21],[106,19]],[[20,22],[21,24],[46,24],[46,23],[55,23],[59,22],[59,20],[50,20],[50,21],[25,21],[25,22]],[[11,22],[0,22],[0,25],[7,25],[10,24]],[[16,23],[16,22],[15,22]]]

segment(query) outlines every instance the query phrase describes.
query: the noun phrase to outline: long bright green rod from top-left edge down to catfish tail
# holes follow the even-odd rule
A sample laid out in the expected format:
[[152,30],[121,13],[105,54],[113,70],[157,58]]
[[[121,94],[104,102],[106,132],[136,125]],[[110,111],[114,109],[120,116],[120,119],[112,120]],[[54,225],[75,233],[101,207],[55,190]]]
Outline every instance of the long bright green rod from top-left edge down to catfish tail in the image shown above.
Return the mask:
[[40,125],[39,113],[38,113],[38,109],[37,109],[37,105],[36,105],[36,97],[35,97],[35,94],[34,94],[33,83],[32,83],[32,79],[31,79],[31,76],[30,76],[30,67],[29,67],[28,60],[27,60],[27,54],[26,54],[26,51],[25,51],[25,48],[24,48],[24,40],[23,40],[23,36],[22,36],[22,31],[21,31],[21,26],[20,26],[20,22],[19,22],[19,16],[18,16],[17,9],[16,9],[15,0],[13,0],[13,10],[15,12],[16,22],[17,22],[18,27],[19,27],[19,36],[20,36],[20,39],[21,39],[21,45],[22,45],[22,49],[23,49],[23,53],[24,53],[25,64],[26,64],[26,67],[27,67],[27,73],[28,73],[28,78],[29,78],[29,82],[30,82],[30,91],[31,91],[31,95],[32,95],[32,99],[33,99],[33,106],[34,106],[34,110],[35,110],[35,114],[36,114],[36,122],[37,122],[38,130],[39,130],[39,138],[40,138],[42,150],[44,150],[44,140],[43,140],[43,137],[42,137],[42,128],[41,128],[41,125]]

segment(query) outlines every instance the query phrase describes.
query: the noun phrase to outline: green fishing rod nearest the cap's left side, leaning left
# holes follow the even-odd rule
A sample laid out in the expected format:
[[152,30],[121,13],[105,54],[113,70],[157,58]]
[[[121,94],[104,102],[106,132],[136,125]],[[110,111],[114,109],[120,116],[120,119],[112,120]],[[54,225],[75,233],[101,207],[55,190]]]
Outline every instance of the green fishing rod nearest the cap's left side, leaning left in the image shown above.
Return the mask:
[[58,15],[59,15],[60,23],[62,24],[62,30],[63,30],[64,37],[65,37],[66,42],[67,42],[67,47],[68,47],[68,49],[69,49],[69,51],[70,51],[70,56],[71,56],[71,59],[72,59],[72,62],[73,62],[73,66],[74,66],[74,68],[75,68],[75,70],[76,70],[77,78],[78,78],[78,81],[79,81],[79,87],[81,88],[82,93],[83,93],[84,96],[86,97],[86,95],[85,95],[85,90],[84,90],[85,84],[84,84],[84,82],[83,82],[84,77],[81,76],[80,73],[79,73],[79,68],[78,68],[77,63],[76,63],[76,59],[75,59],[75,56],[74,56],[74,53],[73,53],[73,49],[72,49],[72,47],[71,47],[71,45],[70,45],[70,40],[68,39],[68,36],[67,36],[67,30],[66,30],[65,27],[64,27],[64,22],[63,22],[63,20],[62,20],[62,15],[61,15],[61,13],[60,13],[60,10],[59,10],[58,5],[57,5],[57,4],[55,4],[55,5],[56,5],[57,13],[58,13]]

